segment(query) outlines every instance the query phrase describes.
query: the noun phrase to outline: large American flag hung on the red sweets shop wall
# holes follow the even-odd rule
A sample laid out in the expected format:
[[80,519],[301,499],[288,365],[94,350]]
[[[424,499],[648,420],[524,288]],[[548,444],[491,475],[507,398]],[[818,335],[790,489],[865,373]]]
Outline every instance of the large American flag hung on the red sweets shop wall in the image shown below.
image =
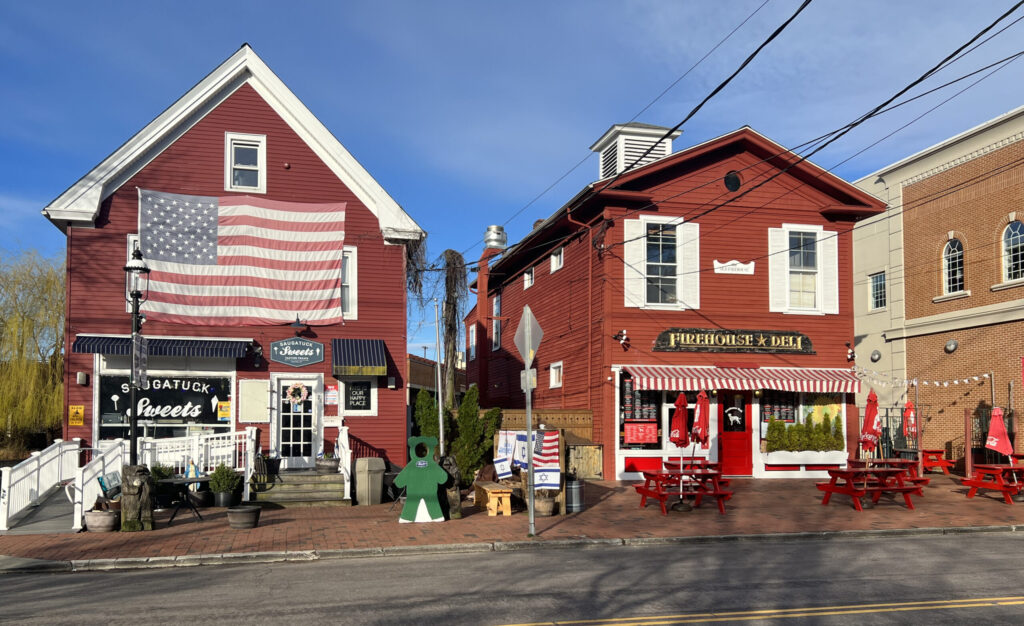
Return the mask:
[[153,321],[203,326],[342,321],[345,203],[139,190]]

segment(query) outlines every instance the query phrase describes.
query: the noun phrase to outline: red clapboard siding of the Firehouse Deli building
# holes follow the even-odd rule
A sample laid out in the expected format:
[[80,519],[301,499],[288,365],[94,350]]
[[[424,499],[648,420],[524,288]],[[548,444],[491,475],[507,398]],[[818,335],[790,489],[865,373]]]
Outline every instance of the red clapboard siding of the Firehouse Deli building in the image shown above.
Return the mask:
[[[512,343],[522,306],[529,304],[544,329],[544,341],[538,354],[538,389],[534,395],[537,408],[592,409],[594,439],[604,445],[605,475],[614,475],[614,450],[617,428],[614,415],[614,381],[608,380],[613,365],[712,365],[722,363],[758,363],[762,367],[829,367],[846,368],[847,341],[853,341],[852,221],[834,221],[821,210],[849,202],[842,192],[826,194],[819,187],[826,184],[783,173],[749,195],[710,211],[696,219],[700,225],[700,307],[697,310],[666,311],[624,306],[623,247],[624,218],[640,214],[694,216],[723,203],[737,194],[729,193],[722,178],[730,170],[742,172],[743,187],[749,189],[778,172],[748,152],[733,150],[720,153],[715,159],[682,161],[680,164],[649,176],[644,186],[632,181],[631,190],[651,195],[653,206],[641,211],[635,208],[607,205],[600,218],[611,220],[603,235],[607,248],[593,244],[596,228],[579,228],[574,239],[566,244],[565,266],[551,275],[548,272],[549,249],[538,250],[530,260],[537,269],[535,284],[522,289],[521,272],[526,266],[516,262],[509,277],[489,278],[492,293],[502,286],[505,323],[503,349],[490,351],[489,334],[478,335],[478,358],[488,360],[489,388],[485,402],[518,408],[524,403],[519,389],[522,362]],[[600,223],[595,220],[592,225]],[[839,232],[840,314],[826,316],[782,315],[769,312],[768,306],[768,228],[783,223],[821,225],[825,231]],[[552,226],[557,227],[557,226]],[[547,234],[545,234],[547,235]],[[556,242],[552,233],[540,241]],[[713,261],[755,261],[753,276],[714,274]],[[498,270],[509,270],[512,262],[499,263]],[[481,267],[481,272],[485,268]],[[486,301],[490,310],[490,298]],[[787,330],[806,334],[814,354],[750,354],[713,352],[652,351],[658,333],[674,327],[743,328]],[[626,329],[630,347],[624,350],[612,338]],[[478,331],[479,332],[479,331]],[[549,389],[545,368],[552,362],[563,361],[565,383],[562,389]],[[589,364],[589,367],[588,367]],[[474,382],[470,369],[470,382]]]

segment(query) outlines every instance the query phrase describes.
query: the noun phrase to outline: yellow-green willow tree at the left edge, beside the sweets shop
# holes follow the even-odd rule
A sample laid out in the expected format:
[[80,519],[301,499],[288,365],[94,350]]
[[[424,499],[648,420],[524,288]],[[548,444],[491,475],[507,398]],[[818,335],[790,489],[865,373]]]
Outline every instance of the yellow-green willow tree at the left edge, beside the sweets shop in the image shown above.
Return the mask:
[[56,430],[63,408],[65,270],[34,251],[0,261],[0,445]]

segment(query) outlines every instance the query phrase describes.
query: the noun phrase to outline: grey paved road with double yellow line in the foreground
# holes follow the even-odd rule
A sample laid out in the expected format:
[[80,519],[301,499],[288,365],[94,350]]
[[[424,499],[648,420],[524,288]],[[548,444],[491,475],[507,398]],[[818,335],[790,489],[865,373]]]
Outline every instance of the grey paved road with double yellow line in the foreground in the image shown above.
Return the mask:
[[11,574],[0,622],[1020,624],[1022,552],[992,533]]

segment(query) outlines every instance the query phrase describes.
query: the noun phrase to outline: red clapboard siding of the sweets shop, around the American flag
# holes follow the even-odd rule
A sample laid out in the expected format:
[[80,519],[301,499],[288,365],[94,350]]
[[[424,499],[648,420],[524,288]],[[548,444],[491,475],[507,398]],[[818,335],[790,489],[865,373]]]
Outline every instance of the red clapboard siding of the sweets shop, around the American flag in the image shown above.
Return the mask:
[[[321,161],[309,147],[248,85],[243,85],[174,143],[160,153],[102,204],[95,228],[72,228],[68,236],[68,403],[85,405],[86,425],[68,427],[66,436],[91,440],[92,389],[73,384],[74,373],[92,371],[92,354],[71,352],[79,333],[131,332],[124,305],[124,264],[127,236],[137,228],[137,189],[206,196],[224,196],[224,133],[265,134],[267,184],[265,197],[290,202],[347,202],[346,245],[358,248],[358,320],[314,327],[305,336],[330,344],[340,337],[384,339],[388,376],[395,389],[378,388],[377,417],[348,417],[350,432],[383,449],[398,463],[407,461],[406,443],[406,282],[401,246],[386,245],[374,214]],[[286,168],[286,164],[287,168]],[[256,327],[196,327],[151,322],[146,335],[251,337],[269,354],[269,343],[294,332],[287,325]],[[264,361],[258,370],[249,360],[238,363],[239,378],[267,378]],[[249,369],[247,369],[249,368]],[[322,372],[330,382],[331,362],[307,368],[269,364],[273,372]],[[330,408],[330,409],[333,409]],[[329,409],[329,410],[330,410]],[[268,433],[261,428],[263,447]]]

